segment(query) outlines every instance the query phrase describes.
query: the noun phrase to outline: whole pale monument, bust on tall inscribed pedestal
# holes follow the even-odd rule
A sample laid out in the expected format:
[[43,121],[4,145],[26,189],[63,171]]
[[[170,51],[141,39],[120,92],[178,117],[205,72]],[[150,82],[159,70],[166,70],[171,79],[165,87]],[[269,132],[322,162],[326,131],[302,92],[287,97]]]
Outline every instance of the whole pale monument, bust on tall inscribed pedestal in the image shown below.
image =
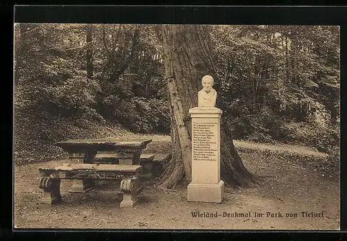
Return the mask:
[[189,109],[192,118],[192,182],[188,185],[189,202],[221,203],[224,181],[221,180],[220,123],[221,109],[215,107],[217,91],[213,78],[205,75],[198,91],[198,107]]

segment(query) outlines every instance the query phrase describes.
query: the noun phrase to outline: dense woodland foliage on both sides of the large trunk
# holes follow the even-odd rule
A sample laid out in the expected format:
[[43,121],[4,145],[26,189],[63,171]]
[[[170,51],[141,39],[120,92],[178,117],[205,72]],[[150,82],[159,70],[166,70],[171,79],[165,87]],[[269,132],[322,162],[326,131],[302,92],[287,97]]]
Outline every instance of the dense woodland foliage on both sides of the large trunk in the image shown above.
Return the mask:
[[[232,138],[304,143],[337,160],[339,27],[209,28]],[[161,35],[154,25],[16,24],[20,145],[53,143],[97,122],[169,134]]]

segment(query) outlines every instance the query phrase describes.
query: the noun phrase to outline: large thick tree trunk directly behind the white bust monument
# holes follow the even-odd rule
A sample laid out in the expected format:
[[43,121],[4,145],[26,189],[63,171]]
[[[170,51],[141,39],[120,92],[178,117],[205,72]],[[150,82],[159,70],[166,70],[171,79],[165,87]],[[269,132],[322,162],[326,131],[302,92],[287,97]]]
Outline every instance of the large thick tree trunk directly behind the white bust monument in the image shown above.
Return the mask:
[[[189,108],[197,106],[201,78],[214,77],[208,26],[164,25],[164,66],[171,110],[172,158],[162,173],[160,187],[175,188],[182,177],[191,181],[192,148]],[[215,79],[217,80],[217,78]],[[200,88],[199,88],[200,87]],[[217,107],[223,109],[221,98]],[[232,143],[226,118],[221,119],[221,178],[237,186],[253,186],[255,177],[244,167]]]

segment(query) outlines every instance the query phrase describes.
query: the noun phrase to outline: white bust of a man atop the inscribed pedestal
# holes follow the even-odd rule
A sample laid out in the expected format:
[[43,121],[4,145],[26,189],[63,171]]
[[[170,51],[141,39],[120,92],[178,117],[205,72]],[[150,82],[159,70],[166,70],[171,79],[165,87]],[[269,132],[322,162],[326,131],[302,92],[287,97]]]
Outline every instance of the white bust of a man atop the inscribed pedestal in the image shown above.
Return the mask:
[[211,75],[205,75],[201,79],[203,89],[198,91],[198,107],[215,107],[217,100],[217,91],[212,88],[213,78]]

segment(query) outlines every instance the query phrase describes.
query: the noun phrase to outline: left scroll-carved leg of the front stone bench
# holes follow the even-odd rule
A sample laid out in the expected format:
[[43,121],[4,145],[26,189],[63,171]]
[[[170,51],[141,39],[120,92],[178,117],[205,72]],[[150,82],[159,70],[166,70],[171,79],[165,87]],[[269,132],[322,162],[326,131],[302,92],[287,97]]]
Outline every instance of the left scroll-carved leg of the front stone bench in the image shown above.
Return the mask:
[[40,188],[44,191],[41,200],[42,203],[53,205],[62,201],[62,196],[60,195],[60,179],[42,177]]

